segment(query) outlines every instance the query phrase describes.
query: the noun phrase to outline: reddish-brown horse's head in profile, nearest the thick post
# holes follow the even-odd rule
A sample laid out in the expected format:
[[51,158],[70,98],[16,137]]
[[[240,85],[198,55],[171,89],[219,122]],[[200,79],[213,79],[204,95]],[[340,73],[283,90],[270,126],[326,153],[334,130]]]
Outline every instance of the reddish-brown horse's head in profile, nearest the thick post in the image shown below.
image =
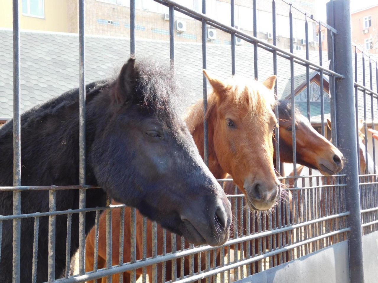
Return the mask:
[[[280,160],[293,163],[293,136],[291,102],[278,103]],[[299,109],[295,109],[297,163],[318,169],[329,176],[341,171],[344,166],[342,153],[311,126]]]

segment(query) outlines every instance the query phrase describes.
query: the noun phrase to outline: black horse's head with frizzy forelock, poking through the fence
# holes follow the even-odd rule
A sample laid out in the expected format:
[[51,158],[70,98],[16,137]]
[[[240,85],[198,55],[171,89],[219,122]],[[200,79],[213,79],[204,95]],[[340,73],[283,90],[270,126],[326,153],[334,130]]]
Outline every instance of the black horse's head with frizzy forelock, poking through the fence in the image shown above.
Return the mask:
[[100,95],[111,102],[102,106],[90,165],[115,200],[192,243],[220,245],[231,206],[178,117],[179,92],[169,67],[130,58]]

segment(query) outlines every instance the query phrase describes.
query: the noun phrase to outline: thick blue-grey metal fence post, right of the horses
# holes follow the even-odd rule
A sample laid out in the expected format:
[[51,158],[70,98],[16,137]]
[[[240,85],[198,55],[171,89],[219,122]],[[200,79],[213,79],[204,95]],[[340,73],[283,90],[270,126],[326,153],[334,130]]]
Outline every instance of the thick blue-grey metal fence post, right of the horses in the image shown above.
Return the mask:
[[[333,3],[332,3],[333,2]],[[355,127],[355,97],[353,95],[352,40],[350,29],[349,0],[335,0],[327,3],[328,25],[333,26],[335,34],[335,72],[345,76],[335,80],[336,127],[338,148],[347,162],[342,172],[346,175],[345,205],[350,211],[348,216],[349,232],[349,270],[350,282],[364,282],[361,211],[358,182],[357,139]],[[333,5],[333,7],[332,7]],[[332,11],[333,15],[330,15]],[[333,18],[333,22],[330,19]]]

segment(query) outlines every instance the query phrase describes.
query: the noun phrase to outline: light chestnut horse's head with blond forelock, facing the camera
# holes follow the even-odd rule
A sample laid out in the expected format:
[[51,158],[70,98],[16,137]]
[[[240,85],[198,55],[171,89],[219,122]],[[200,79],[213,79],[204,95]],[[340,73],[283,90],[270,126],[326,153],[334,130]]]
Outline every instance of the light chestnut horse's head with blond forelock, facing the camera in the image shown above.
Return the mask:
[[280,194],[272,145],[276,76],[264,83],[239,77],[223,82],[203,72],[214,90],[206,113],[206,119],[214,121],[209,126],[214,148],[209,151],[215,151],[219,165],[234,178],[252,209],[270,209]]

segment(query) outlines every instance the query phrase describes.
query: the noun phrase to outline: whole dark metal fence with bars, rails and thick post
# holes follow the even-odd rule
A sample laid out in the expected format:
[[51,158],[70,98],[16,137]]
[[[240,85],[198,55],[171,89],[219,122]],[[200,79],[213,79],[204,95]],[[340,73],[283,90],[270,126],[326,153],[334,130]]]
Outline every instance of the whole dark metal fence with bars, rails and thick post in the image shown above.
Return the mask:
[[[281,1],[281,0],[277,0]],[[206,16],[206,1],[202,0],[202,12],[193,11],[183,5],[179,5],[170,0],[155,0],[169,7],[169,28],[170,28],[170,59],[174,62],[175,43],[174,43],[174,11],[181,12],[202,23],[202,65],[206,69],[206,26],[212,26],[231,34],[231,70],[230,75],[236,74],[235,67],[235,37],[241,38],[246,42],[253,44],[254,54],[254,77],[259,78],[259,57],[258,50],[263,49],[271,53],[273,61],[273,73],[277,74],[277,57],[284,58],[290,64],[291,76],[291,95],[292,105],[295,105],[294,95],[294,69],[303,68],[306,72],[307,87],[307,118],[311,121],[310,113],[310,70],[319,72],[320,76],[320,97],[321,97],[321,132],[325,135],[325,114],[324,114],[324,78],[329,81],[330,109],[331,120],[333,122],[332,142],[340,148],[347,158],[342,174],[333,177],[324,177],[322,175],[297,176],[296,166],[296,130],[295,130],[295,112],[294,108],[291,113],[292,138],[293,138],[293,171],[292,177],[281,177],[286,184],[285,191],[290,193],[279,202],[276,208],[266,214],[257,214],[249,211],[245,206],[244,196],[239,193],[237,188],[234,194],[229,195],[233,207],[234,229],[232,238],[222,246],[217,248],[211,246],[194,246],[184,242],[183,238],[176,235],[170,235],[169,232],[163,231],[162,238],[158,238],[160,229],[156,223],[151,223],[143,218],[142,228],[137,226],[138,212],[134,208],[125,208],[124,205],[110,205],[110,199],[107,200],[106,208],[85,208],[85,191],[91,189],[85,184],[85,18],[84,18],[84,0],[79,0],[79,42],[80,42],[80,186],[71,187],[28,187],[21,186],[20,182],[20,30],[19,30],[19,1],[13,1],[13,34],[14,34],[14,181],[11,188],[0,188],[2,191],[13,191],[13,215],[0,216],[0,231],[2,223],[6,220],[13,221],[13,281],[19,282],[20,270],[20,241],[21,228],[20,220],[22,218],[34,218],[34,253],[33,253],[33,282],[36,282],[37,272],[37,246],[38,246],[38,227],[39,218],[49,218],[49,243],[48,252],[50,260],[48,263],[49,282],[55,281],[55,217],[56,215],[68,215],[67,228],[71,230],[71,215],[79,214],[79,253],[78,253],[78,274],[70,274],[70,256],[69,244],[70,234],[67,234],[67,257],[66,257],[66,276],[56,281],[64,282],[84,282],[96,278],[107,277],[107,282],[112,281],[113,274],[130,273],[130,280],[135,282],[139,277],[141,269],[141,280],[147,281],[147,273],[150,273],[149,280],[158,282],[158,273],[161,268],[162,281],[169,277],[167,270],[170,270],[170,279],[168,281],[178,281],[181,283],[205,280],[210,281],[232,281],[239,278],[248,277],[251,274],[264,271],[282,263],[294,260],[314,251],[318,251],[327,246],[338,242],[349,240],[350,249],[350,278],[351,282],[363,282],[363,264],[362,264],[362,235],[377,231],[378,227],[378,194],[377,180],[375,169],[375,141],[372,140],[373,154],[373,172],[359,171],[358,180],[358,159],[359,151],[357,147],[358,132],[354,125],[357,125],[361,116],[361,107],[363,108],[363,119],[366,145],[365,160],[369,168],[368,158],[368,141],[367,127],[371,125],[374,129],[374,115],[378,112],[378,69],[377,63],[372,59],[367,59],[365,54],[357,53],[355,48],[355,105],[353,105],[353,80],[350,76],[352,71],[352,49],[350,42],[350,22],[349,22],[349,5],[347,1],[337,0],[328,3],[328,20],[327,23],[317,21],[313,15],[303,13],[305,20],[305,58],[293,54],[293,15],[295,9],[287,3],[289,8],[290,25],[290,50],[277,48],[276,36],[276,0],[271,1],[271,11],[273,14],[273,41],[272,44],[265,40],[257,38],[256,29],[256,0],[253,0],[253,26],[254,35],[248,35],[245,32],[236,29],[234,25],[234,0],[231,0],[231,26],[224,25],[212,18]],[[283,1],[285,2],[285,1]],[[286,2],[285,2],[286,3]],[[345,9],[344,9],[345,8]],[[334,11],[344,11],[335,13]],[[135,0],[130,0],[130,51],[135,54]],[[308,51],[308,22],[319,24],[319,62],[310,61]],[[345,26],[343,26],[345,25]],[[322,51],[321,27],[328,31],[328,63],[324,62],[324,52]],[[252,52],[252,50],[251,50]],[[136,54],[138,56],[138,54]],[[369,61],[367,67],[366,61]],[[362,64],[362,74],[359,66]],[[367,68],[366,68],[367,67]],[[366,80],[367,77],[367,80]],[[362,78],[362,82],[361,82]],[[376,91],[373,90],[376,89]],[[277,89],[277,86],[276,86]],[[370,100],[369,100],[370,97]],[[362,100],[361,100],[362,98]],[[207,107],[207,82],[203,77],[203,99],[204,111]],[[370,104],[369,104],[370,103]],[[370,107],[369,107],[370,105]],[[369,112],[370,109],[370,112]],[[375,112],[377,111],[377,112]],[[343,115],[347,113],[347,115]],[[356,113],[356,115],[354,115]],[[276,108],[276,116],[278,116]],[[350,115],[353,114],[353,115]],[[369,116],[370,115],[370,116]],[[356,117],[356,118],[355,118]],[[204,121],[204,160],[208,164],[208,140],[207,140],[207,122]],[[275,131],[276,140],[279,140],[279,130]],[[276,168],[278,172],[283,173],[282,163],[279,158],[279,143],[276,143]],[[348,150],[345,150],[348,149]],[[371,161],[370,161],[371,162]],[[311,170],[310,170],[311,174]],[[307,180],[307,181],[306,181]],[[219,180],[222,185],[231,182],[231,179]],[[293,185],[294,182],[294,185]],[[306,185],[308,182],[309,185]],[[299,184],[301,184],[299,186]],[[359,191],[357,188],[359,187]],[[20,194],[22,191],[31,189],[48,190],[50,211],[35,214],[21,214]],[[80,190],[79,209],[70,211],[56,211],[56,191],[58,189],[78,189]],[[360,198],[361,195],[361,198]],[[361,206],[360,206],[361,205]],[[244,209],[245,208],[245,209]],[[112,210],[118,210],[121,215],[121,224],[119,227],[119,263],[112,263]],[[85,272],[85,213],[96,211],[95,234],[96,240],[94,245],[94,266],[93,271]],[[105,211],[106,231],[99,231],[100,212]],[[124,215],[130,214],[130,223],[123,221]],[[357,216],[357,217],[356,217]],[[360,217],[361,216],[361,217]],[[362,225],[361,225],[362,219]],[[130,242],[124,243],[124,228],[130,225]],[[150,234],[147,234],[147,231]],[[107,237],[107,258],[103,268],[98,267],[98,234],[106,233]],[[136,249],[138,245],[136,238],[142,234],[143,243],[142,256],[138,257]],[[0,232],[0,241],[1,241]],[[159,236],[160,237],[160,236]],[[152,241],[152,245],[148,245]],[[162,250],[158,250],[157,242],[163,242]],[[170,247],[169,244],[170,243]],[[123,247],[130,247],[130,261],[124,263]],[[152,250],[149,250],[152,246]],[[169,247],[169,249],[167,248]],[[220,259],[220,262],[218,262]],[[188,268],[186,268],[186,266]],[[119,282],[122,282],[122,276],[119,276]]]

